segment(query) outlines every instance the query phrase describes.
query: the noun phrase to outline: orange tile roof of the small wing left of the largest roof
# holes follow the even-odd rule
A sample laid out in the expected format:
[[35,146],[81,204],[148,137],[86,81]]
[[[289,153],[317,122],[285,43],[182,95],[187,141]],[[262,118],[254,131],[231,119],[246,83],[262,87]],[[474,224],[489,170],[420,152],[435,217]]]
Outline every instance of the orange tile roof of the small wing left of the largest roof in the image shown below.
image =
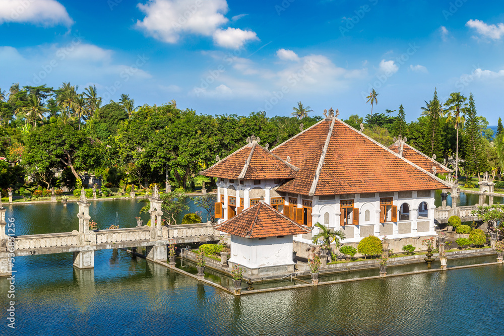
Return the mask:
[[298,170],[253,141],[200,174],[229,179],[259,180],[294,178]]

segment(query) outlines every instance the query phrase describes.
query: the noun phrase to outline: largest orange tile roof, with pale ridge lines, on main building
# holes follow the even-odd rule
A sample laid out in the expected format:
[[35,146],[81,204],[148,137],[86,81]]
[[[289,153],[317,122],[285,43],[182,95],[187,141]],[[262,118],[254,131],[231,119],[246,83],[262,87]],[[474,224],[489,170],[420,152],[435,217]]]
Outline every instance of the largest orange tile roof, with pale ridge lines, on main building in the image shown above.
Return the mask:
[[278,191],[308,195],[446,189],[443,180],[329,117],[272,150],[291,158],[297,177]]

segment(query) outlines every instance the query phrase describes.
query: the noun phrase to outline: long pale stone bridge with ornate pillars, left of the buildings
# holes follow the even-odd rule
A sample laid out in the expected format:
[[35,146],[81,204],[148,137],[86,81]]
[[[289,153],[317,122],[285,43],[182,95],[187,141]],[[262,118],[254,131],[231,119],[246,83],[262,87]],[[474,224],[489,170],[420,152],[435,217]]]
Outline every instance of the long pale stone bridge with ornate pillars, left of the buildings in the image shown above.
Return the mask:
[[0,200],[0,276],[8,276],[12,272],[13,257],[51,254],[74,253],[74,266],[78,268],[94,267],[94,251],[118,248],[142,248],[151,260],[166,260],[166,245],[174,242],[192,243],[219,240],[219,232],[214,230],[210,222],[189,225],[161,226],[163,201],[159,198],[157,188],[149,196],[151,203],[151,223],[155,225],[134,228],[89,230],[89,206],[83,189],[79,206],[79,231],[49,233],[37,235],[13,236],[6,233],[9,224],[5,220],[6,209]]

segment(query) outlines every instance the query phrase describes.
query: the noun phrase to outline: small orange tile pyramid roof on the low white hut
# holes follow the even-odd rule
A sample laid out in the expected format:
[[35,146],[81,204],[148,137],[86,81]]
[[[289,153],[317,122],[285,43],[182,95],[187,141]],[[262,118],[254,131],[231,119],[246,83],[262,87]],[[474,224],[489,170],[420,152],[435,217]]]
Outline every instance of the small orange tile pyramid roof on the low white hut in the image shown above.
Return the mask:
[[243,238],[290,236],[310,232],[307,227],[297,224],[264,203],[248,208],[214,228]]

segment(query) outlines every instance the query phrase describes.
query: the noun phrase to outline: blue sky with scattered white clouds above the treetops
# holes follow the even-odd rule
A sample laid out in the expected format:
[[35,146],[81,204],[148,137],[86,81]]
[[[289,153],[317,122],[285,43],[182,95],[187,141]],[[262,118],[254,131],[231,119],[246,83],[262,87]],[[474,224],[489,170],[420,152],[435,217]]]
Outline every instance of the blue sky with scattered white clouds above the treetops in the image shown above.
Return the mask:
[[504,89],[504,4],[458,1],[0,0],[0,88],[96,85],[105,101],[175,99],[203,114],[301,100],[322,115],[364,116],[403,104],[420,115],[472,92],[496,124]]

